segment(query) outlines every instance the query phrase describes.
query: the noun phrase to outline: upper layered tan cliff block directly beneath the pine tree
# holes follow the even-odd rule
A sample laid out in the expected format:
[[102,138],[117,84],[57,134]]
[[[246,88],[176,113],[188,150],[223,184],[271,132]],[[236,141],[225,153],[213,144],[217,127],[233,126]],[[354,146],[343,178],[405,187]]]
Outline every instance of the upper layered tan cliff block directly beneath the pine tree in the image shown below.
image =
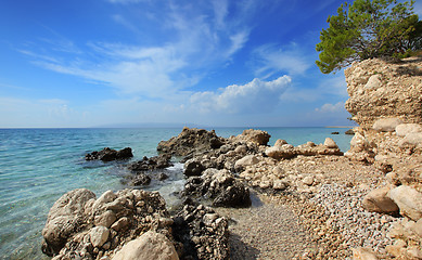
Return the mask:
[[401,62],[379,58],[355,63],[345,70],[349,100],[346,109],[363,129],[380,118],[422,123],[422,57]]

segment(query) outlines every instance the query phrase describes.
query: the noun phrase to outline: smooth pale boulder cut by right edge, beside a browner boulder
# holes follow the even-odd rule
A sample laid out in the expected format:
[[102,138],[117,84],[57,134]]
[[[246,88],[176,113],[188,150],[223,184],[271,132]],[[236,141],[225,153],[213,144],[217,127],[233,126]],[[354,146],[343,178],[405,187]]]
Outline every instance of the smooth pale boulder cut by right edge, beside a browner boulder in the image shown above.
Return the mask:
[[388,196],[397,204],[400,214],[413,221],[422,218],[422,193],[410,186],[400,185],[391,190]]

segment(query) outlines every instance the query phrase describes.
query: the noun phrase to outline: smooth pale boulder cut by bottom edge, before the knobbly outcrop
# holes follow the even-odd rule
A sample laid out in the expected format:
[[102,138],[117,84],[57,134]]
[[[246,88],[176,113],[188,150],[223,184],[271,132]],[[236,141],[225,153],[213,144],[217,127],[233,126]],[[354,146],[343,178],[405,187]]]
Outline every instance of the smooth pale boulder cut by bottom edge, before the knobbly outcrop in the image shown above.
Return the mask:
[[178,260],[175,246],[163,234],[154,231],[143,233],[126,244],[112,260]]

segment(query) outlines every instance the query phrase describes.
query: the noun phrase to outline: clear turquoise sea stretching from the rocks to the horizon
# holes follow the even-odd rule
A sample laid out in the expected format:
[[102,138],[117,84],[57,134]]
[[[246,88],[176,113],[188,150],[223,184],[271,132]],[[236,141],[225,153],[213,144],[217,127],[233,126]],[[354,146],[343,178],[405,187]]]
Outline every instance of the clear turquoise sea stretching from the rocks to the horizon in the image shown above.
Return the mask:
[[[217,135],[238,135],[247,128],[215,128]],[[255,128],[257,129],[257,128]],[[284,139],[299,145],[332,138],[343,152],[349,148],[349,128],[259,128],[271,134],[269,144]],[[159,141],[178,135],[181,128],[128,129],[0,129],[0,259],[49,259],[41,252],[41,231],[49,209],[63,194],[89,188],[103,192],[128,187],[123,162],[86,161],[85,155],[104,147],[131,147],[133,158],[157,155]],[[207,130],[212,130],[210,128]],[[340,132],[340,134],[332,134]],[[175,161],[169,179],[145,187],[158,191],[167,205],[177,204],[183,166]]]

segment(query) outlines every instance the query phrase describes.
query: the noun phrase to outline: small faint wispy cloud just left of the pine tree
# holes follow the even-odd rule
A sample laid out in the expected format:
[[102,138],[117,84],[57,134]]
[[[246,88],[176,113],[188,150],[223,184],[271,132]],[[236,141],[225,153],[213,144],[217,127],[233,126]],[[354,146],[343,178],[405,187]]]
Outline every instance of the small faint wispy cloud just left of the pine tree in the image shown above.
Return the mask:
[[286,47],[261,46],[254,51],[254,57],[255,75],[261,78],[268,78],[278,73],[303,75],[312,64],[295,43]]

